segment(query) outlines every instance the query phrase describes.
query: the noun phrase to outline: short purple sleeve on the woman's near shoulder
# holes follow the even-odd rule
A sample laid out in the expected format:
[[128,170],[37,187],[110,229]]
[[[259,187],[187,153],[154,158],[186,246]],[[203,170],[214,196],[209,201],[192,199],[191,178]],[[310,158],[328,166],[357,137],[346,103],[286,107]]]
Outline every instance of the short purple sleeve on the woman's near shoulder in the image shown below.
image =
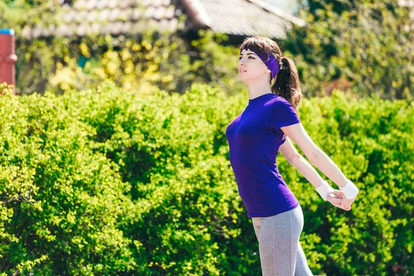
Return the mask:
[[295,108],[286,100],[275,101],[268,117],[268,126],[279,130],[283,126],[300,123]]

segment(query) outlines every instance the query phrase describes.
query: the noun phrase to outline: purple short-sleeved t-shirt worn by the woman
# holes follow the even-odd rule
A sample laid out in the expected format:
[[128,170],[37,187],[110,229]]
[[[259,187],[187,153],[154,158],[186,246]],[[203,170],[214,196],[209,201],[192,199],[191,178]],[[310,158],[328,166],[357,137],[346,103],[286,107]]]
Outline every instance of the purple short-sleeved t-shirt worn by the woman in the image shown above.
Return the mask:
[[284,97],[268,93],[249,99],[227,126],[230,164],[248,217],[270,217],[299,205],[279,174],[276,157],[286,141],[280,128],[300,122]]

